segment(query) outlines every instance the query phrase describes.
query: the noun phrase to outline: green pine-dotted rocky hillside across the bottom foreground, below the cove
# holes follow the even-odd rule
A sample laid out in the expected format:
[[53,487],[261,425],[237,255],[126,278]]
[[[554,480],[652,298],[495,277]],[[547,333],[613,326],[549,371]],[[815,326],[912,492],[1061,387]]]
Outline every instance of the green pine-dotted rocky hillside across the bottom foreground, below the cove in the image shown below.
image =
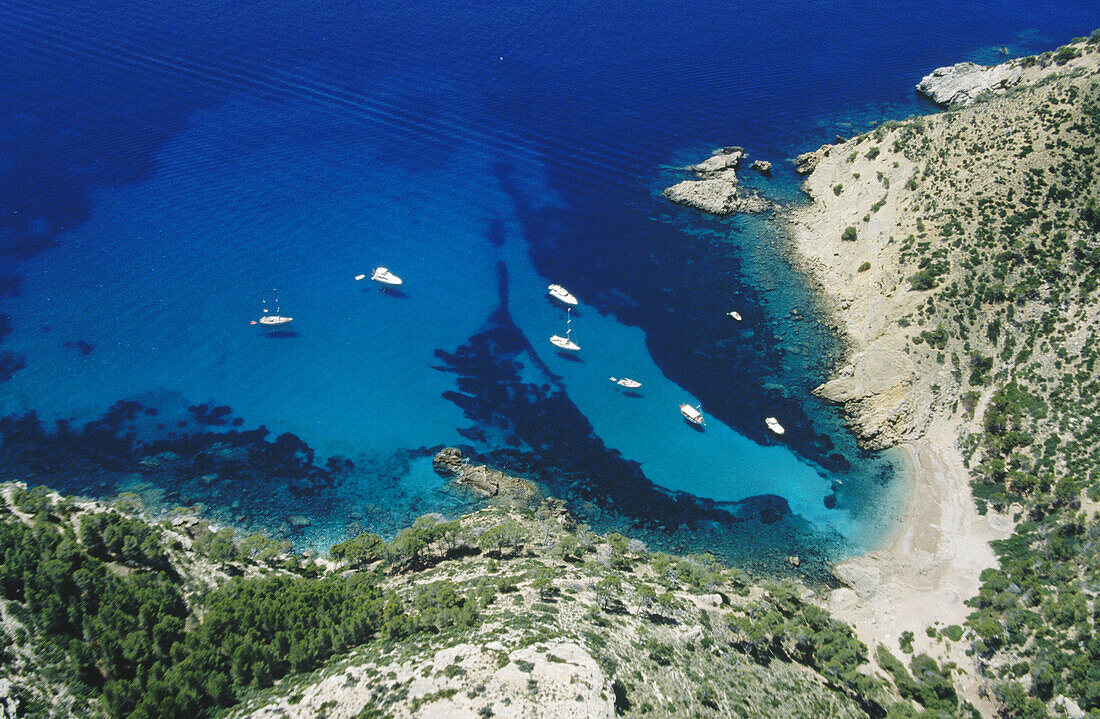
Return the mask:
[[917,659],[910,675],[880,652],[877,673],[793,585],[597,537],[556,500],[426,517],[304,563],[194,519],[151,526],[21,485],[0,497],[6,716],[965,709],[949,667]]

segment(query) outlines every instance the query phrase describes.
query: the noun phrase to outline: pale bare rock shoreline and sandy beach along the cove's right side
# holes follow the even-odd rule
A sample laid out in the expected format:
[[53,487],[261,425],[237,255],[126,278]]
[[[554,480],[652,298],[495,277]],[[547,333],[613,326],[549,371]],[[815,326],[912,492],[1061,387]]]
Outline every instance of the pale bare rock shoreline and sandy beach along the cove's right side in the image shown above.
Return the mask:
[[[977,594],[982,571],[997,566],[990,541],[1013,531],[1008,516],[979,513],[975,506],[960,442],[980,431],[974,406],[980,410],[992,390],[974,390],[956,356],[961,346],[956,350],[942,325],[932,324],[933,290],[953,266],[949,247],[936,251],[933,237],[943,222],[937,219],[950,215],[960,195],[992,195],[990,188],[1005,181],[1000,175],[1026,175],[1026,165],[1012,162],[1026,157],[1032,145],[1053,142],[1045,133],[1057,129],[1033,120],[1030,103],[1040,101],[1023,97],[1027,89],[1094,75],[1097,66],[1096,51],[1080,45],[996,67],[935,70],[917,89],[952,112],[886,123],[800,155],[796,169],[806,175],[803,190],[811,202],[781,215],[793,262],[818,288],[847,346],[815,394],[844,407],[864,446],[898,447],[912,475],[897,532],[880,550],[834,567],[844,586],[832,593],[828,607],[869,646],[897,644],[911,632],[917,651],[966,667],[960,688],[983,716],[996,707],[979,686],[975,657],[924,638],[926,628],[961,624],[970,615],[965,601]],[[1007,137],[1022,125],[1030,134],[1014,147]],[[990,136],[1000,126],[1005,139]],[[989,153],[988,167],[975,166],[974,148],[982,145],[974,143],[982,142],[1005,146],[1013,161],[1001,164],[1000,155]],[[942,172],[928,159],[934,154]],[[979,317],[975,324],[992,321]]]

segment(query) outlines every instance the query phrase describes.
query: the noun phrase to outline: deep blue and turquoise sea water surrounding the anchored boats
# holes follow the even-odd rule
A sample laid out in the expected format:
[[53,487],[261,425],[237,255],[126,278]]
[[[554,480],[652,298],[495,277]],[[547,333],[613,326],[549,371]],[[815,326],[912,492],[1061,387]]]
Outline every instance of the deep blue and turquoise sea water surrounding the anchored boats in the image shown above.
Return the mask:
[[[927,71],[1098,20],[1094,0],[7,0],[4,474],[323,549],[468,508],[430,464],[458,444],[654,546],[810,572],[865,551],[904,468],[811,395],[840,345],[781,228],[661,189],[736,144],[774,163],[744,181],[803,201],[789,159],[933,111]],[[378,265],[400,291],[354,279]],[[575,355],[548,341],[549,283],[580,298]],[[250,324],[264,301],[294,322]]]

